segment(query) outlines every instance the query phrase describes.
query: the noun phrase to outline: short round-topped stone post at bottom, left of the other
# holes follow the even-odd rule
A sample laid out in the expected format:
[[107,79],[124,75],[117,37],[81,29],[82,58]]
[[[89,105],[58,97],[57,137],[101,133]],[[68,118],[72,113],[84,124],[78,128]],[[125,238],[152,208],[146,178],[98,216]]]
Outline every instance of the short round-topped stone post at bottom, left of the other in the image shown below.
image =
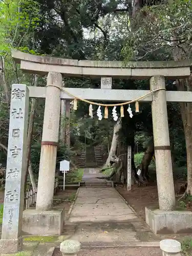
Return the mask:
[[76,256],[80,251],[81,244],[75,240],[66,240],[60,244],[60,251],[63,256],[73,255]]

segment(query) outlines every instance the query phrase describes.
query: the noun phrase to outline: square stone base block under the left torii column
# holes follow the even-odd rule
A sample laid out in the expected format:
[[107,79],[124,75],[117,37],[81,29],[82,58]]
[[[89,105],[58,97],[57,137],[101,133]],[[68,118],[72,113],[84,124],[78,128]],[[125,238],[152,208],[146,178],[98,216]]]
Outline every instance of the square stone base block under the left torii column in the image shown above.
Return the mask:
[[24,232],[33,235],[60,235],[65,221],[64,209],[37,211],[27,209],[23,212]]

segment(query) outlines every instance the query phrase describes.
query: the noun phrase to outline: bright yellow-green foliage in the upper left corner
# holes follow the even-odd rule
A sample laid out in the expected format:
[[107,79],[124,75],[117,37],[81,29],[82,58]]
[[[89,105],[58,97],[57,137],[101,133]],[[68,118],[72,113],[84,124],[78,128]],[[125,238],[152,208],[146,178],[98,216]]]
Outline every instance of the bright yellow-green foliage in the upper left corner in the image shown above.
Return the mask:
[[32,0],[0,2],[0,53],[20,47],[38,25],[39,5]]

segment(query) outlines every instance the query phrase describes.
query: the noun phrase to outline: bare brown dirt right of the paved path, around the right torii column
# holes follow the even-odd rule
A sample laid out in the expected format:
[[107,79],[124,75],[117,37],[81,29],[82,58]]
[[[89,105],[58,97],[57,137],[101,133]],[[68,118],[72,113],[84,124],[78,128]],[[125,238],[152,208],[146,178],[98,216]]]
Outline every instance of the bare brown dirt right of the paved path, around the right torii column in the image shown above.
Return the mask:
[[[182,184],[182,180],[175,182],[176,194],[179,193]],[[147,186],[134,185],[130,191],[127,191],[126,187],[122,186],[116,186],[116,189],[143,220],[145,220],[145,206],[159,207],[156,183],[150,183]]]

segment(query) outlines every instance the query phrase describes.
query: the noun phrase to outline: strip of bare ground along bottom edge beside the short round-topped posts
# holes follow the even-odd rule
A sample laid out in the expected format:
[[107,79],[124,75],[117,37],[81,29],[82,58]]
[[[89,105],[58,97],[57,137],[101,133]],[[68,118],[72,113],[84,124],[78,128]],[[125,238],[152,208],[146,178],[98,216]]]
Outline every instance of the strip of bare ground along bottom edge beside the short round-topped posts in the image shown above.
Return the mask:
[[[161,256],[160,248],[82,248],[78,256]],[[58,248],[53,256],[62,256]]]

